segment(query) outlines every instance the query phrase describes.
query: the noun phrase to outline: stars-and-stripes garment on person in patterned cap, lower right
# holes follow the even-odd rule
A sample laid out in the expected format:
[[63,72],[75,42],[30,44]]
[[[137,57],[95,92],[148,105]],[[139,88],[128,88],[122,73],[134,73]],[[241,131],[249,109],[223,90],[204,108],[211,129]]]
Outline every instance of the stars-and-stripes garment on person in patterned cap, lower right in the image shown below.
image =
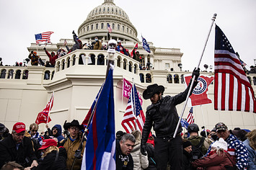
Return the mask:
[[[216,140],[217,141],[217,140]],[[248,165],[248,151],[247,148],[244,146],[244,144],[239,141],[234,135],[229,135],[229,138],[227,138],[226,143],[228,143],[228,153],[231,156],[234,156],[236,159],[236,166],[238,169],[246,169]],[[213,143],[211,143],[211,146]],[[208,148],[208,151],[206,153],[206,156],[208,153],[211,152],[211,146]]]

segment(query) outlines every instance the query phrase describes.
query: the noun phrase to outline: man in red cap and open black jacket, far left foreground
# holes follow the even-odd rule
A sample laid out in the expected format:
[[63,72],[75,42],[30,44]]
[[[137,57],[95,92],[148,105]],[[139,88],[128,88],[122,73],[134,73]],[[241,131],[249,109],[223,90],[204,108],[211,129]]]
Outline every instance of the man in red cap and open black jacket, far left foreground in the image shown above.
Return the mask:
[[0,141],[0,168],[9,161],[15,161],[24,167],[38,165],[32,141],[25,137],[25,131],[25,124],[17,122],[12,128],[12,135]]

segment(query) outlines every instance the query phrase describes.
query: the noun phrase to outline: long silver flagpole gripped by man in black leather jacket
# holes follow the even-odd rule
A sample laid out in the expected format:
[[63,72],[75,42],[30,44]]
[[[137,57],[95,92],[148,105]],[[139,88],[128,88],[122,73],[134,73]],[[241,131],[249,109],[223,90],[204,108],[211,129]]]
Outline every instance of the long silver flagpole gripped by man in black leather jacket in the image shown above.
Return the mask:
[[[206,38],[206,43],[205,43],[205,45],[204,45],[202,55],[201,55],[200,60],[199,60],[199,62],[198,62],[198,68],[199,68],[199,66],[200,66],[200,62],[202,61],[203,53],[204,53],[204,51],[205,51],[205,49],[206,49],[206,45],[207,45],[207,42],[208,42],[208,39],[209,39],[209,36],[210,36],[210,33],[211,33],[211,28],[213,27],[213,23],[215,22],[216,16],[217,16],[217,14],[213,14],[213,18],[211,19],[211,20],[212,20],[212,22],[211,22],[211,27],[210,27],[210,30],[209,30],[209,32],[208,32],[208,36],[207,36],[207,38]],[[180,115],[180,119],[179,119],[179,121],[178,121],[178,123],[177,123],[176,129],[175,129],[175,133],[173,134],[173,138],[175,138],[176,135],[177,135],[177,131],[178,131],[178,128],[179,128],[179,126],[180,126],[180,121],[181,121],[182,116],[183,116],[183,114],[184,114],[185,107],[186,107],[186,105],[187,105],[187,100],[188,100],[188,98],[190,97],[190,93],[191,93],[191,91],[192,91],[192,87],[193,87],[194,81],[195,81],[195,76],[193,76],[193,80],[192,80],[192,82],[191,82],[190,89],[189,89],[189,91],[188,91],[188,93],[187,93],[187,98],[186,98],[186,100],[185,100],[185,104],[184,104],[184,106],[183,106],[183,109],[182,109],[182,112],[181,112],[181,115]]]

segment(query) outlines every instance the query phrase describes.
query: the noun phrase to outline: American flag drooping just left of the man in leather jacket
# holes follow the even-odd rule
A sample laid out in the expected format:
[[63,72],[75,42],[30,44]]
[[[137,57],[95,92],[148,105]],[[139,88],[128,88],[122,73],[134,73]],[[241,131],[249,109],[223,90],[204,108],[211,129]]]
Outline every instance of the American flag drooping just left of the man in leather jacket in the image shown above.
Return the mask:
[[125,129],[126,133],[131,133],[133,130],[142,131],[144,122],[144,112],[141,108],[141,102],[138,99],[136,86],[133,85],[121,125]]

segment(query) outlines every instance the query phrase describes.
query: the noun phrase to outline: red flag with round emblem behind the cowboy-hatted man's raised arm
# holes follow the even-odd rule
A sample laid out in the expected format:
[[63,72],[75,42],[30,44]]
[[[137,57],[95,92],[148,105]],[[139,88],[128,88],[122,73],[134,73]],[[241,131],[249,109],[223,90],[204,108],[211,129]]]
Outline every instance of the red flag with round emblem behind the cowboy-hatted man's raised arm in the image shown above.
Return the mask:
[[[185,76],[186,86],[190,83],[192,76]],[[208,98],[208,86],[213,81],[214,77],[199,76],[198,85],[193,89],[192,95],[188,101],[189,106],[197,106],[202,104],[212,103],[211,99]]]

